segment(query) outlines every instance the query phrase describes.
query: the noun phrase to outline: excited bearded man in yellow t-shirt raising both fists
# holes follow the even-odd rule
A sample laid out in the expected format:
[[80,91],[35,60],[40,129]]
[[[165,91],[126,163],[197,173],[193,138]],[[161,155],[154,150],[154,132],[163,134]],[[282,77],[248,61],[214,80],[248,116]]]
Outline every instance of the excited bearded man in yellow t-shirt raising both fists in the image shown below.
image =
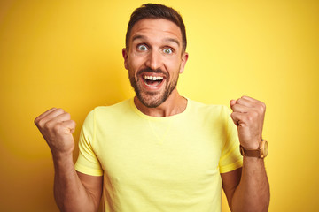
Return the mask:
[[75,169],[70,115],[53,108],[35,118],[51,148],[58,208],[97,211],[103,193],[105,211],[220,211],[223,188],[232,211],[268,210],[258,150],[264,103],[231,100],[230,118],[224,106],[179,95],[185,49],[183,19],[172,8],[133,12],[122,55],[136,96],[89,113]]

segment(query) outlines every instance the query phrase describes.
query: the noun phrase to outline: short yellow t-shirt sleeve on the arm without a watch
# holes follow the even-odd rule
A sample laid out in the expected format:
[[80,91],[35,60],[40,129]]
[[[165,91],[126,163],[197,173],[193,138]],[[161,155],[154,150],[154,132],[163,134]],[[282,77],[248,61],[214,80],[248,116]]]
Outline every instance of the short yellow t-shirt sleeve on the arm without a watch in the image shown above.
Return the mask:
[[92,110],[82,125],[79,140],[79,157],[74,168],[87,175],[102,176],[103,170],[93,149],[95,127],[95,110]]

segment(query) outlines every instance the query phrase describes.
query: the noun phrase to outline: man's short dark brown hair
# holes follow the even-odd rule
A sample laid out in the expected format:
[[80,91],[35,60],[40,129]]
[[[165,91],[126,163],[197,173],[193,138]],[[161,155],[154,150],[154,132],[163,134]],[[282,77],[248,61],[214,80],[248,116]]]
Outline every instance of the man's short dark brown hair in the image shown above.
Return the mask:
[[186,30],[182,16],[173,8],[167,7],[163,4],[143,4],[141,7],[138,7],[135,11],[133,11],[128,22],[128,31],[125,38],[125,45],[127,49],[132,27],[141,19],[167,19],[174,22],[175,25],[181,29],[183,51],[186,50]]

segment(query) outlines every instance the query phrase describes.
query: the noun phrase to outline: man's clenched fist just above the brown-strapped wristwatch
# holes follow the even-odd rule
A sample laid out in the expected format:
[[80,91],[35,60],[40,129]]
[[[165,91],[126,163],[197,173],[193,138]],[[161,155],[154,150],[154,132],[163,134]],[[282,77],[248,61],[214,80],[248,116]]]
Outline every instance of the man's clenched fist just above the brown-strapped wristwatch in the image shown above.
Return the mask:
[[238,138],[244,148],[257,149],[261,142],[266,105],[248,96],[230,101],[231,118],[237,125]]

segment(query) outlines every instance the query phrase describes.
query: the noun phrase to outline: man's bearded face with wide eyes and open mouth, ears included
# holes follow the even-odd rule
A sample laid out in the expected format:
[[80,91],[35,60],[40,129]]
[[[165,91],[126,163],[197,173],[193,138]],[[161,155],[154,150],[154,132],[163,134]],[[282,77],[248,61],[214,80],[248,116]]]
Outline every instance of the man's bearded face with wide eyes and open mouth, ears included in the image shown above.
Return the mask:
[[129,47],[122,54],[136,96],[149,108],[165,102],[176,89],[178,75],[188,58],[183,52],[180,28],[167,19],[136,22]]

